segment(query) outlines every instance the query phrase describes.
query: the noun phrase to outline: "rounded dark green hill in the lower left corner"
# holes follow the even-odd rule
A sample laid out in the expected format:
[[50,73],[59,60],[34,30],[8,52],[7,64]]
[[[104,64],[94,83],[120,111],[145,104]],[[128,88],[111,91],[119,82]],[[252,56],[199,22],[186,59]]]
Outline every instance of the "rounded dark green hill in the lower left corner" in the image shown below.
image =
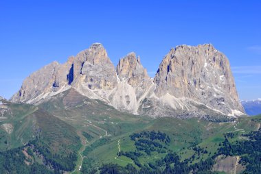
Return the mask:
[[[21,153],[19,160],[29,159],[22,163],[25,166],[45,164],[45,168],[56,171],[73,171],[80,149],[74,127],[34,105],[4,101],[4,106],[9,114],[0,123],[2,156]],[[5,165],[0,168],[8,171]]]

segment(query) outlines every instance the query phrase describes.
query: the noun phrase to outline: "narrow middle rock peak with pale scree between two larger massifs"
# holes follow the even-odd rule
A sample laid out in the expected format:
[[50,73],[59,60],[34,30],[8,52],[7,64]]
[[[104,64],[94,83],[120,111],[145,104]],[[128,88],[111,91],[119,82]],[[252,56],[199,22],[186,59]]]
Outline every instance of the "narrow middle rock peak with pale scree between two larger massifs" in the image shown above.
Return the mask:
[[135,53],[129,53],[117,64],[119,84],[111,92],[109,101],[118,110],[138,114],[137,110],[153,85],[146,69]]

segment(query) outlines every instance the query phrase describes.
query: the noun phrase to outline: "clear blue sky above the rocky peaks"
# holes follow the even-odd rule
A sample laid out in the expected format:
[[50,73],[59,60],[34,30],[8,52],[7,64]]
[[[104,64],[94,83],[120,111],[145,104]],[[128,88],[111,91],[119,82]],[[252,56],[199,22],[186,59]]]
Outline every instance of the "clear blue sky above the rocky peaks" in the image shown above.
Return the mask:
[[116,65],[135,51],[150,76],[171,47],[212,43],[240,99],[261,97],[261,1],[0,1],[0,95],[45,64],[101,42]]

